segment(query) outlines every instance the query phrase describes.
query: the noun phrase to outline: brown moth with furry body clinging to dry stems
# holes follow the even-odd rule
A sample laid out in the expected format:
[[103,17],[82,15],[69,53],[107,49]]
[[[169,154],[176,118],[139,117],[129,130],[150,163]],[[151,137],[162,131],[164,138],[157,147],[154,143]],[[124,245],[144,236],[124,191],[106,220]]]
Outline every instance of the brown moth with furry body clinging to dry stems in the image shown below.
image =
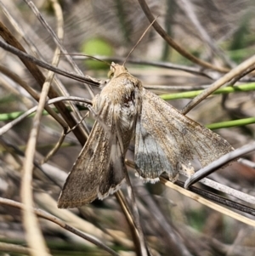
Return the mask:
[[98,118],[59,196],[59,208],[77,208],[120,189],[127,147],[135,139],[139,177],[173,182],[197,159],[204,167],[232,151],[229,143],[146,90],[124,65],[112,63],[111,81],[94,98]]

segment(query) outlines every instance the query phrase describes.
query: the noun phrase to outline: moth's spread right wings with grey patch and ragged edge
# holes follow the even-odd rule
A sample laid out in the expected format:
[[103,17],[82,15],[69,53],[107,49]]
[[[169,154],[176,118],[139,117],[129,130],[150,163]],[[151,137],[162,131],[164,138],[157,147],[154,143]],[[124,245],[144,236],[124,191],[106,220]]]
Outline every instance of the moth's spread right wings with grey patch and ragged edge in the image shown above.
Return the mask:
[[152,182],[166,172],[173,181],[182,166],[197,159],[207,166],[232,151],[229,143],[208,128],[182,115],[156,94],[143,89],[136,125],[135,163],[139,175]]

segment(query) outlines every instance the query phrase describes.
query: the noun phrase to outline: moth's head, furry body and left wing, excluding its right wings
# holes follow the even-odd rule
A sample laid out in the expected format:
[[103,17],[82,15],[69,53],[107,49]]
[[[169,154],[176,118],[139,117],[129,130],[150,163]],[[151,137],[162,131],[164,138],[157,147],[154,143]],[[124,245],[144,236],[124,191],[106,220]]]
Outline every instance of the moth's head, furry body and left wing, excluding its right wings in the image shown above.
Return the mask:
[[59,208],[75,208],[116,192],[125,179],[124,156],[139,112],[139,80],[113,65],[110,82],[94,99],[94,124],[63,190]]

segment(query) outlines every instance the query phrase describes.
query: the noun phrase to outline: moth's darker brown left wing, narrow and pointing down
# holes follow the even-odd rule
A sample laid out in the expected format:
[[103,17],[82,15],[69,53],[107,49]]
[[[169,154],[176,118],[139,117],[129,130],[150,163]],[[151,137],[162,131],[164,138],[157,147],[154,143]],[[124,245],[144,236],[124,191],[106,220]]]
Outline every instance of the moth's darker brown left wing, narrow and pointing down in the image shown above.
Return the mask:
[[[96,139],[94,139],[96,138]],[[59,208],[77,208],[116,192],[125,179],[121,141],[95,122],[59,196]]]

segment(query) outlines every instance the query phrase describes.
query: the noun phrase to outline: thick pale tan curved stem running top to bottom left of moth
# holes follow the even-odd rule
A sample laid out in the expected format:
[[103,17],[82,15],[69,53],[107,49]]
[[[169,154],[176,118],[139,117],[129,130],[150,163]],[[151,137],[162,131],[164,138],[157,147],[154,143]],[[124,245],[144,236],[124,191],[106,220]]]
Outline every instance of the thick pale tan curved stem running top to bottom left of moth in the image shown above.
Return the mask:
[[[59,4],[55,3],[54,8]],[[58,8],[59,9],[59,8]],[[60,13],[62,15],[62,13]],[[61,23],[58,25],[61,25]],[[59,26],[61,27],[61,26]],[[62,29],[59,29],[62,31]],[[63,33],[59,33],[63,36]],[[52,65],[59,64],[59,48],[56,48],[54,52],[54,59]],[[48,248],[46,247],[44,238],[42,236],[42,231],[37,223],[37,217],[34,211],[32,210],[33,207],[33,193],[32,193],[32,171],[33,171],[33,162],[34,156],[36,152],[36,145],[37,145],[37,136],[39,134],[40,129],[40,122],[42,118],[42,111],[44,109],[44,105],[46,103],[48,92],[51,86],[51,83],[54,79],[54,72],[48,71],[48,76],[46,81],[42,86],[42,93],[40,94],[40,100],[37,106],[37,113],[34,117],[33,127],[31,128],[30,137],[28,139],[26,152],[25,152],[25,160],[23,165],[23,175],[21,179],[21,187],[20,187],[20,197],[21,201],[24,203],[23,208],[23,224],[26,230],[26,240],[29,246],[34,249],[35,251],[38,250],[42,256],[49,255]],[[37,256],[37,253],[31,252],[32,255]]]

